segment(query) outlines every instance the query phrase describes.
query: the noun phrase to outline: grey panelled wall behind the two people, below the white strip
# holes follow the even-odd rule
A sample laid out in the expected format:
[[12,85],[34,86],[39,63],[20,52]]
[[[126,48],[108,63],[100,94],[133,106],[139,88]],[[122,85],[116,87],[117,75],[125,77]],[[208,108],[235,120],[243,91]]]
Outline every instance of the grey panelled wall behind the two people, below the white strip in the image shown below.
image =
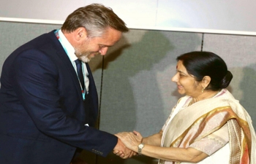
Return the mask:
[[[10,22],[0,22],[0,27],[0,66],[21,44],[60,28]],[[228,89],[249,112],[256,128],[255,44],[256,36],[131,29],[104,59],[98,56],[89,63],[101,98],[99,129],[110,133],[138,130],[143,136],[157,133],[181,97],[176,84],[171,82],[176,72],[176,56],[201,48],[226,61],[233,73]],[[86,151],[81,157],[89,164],[156,163],[143,156],[122,160],[112,154],[102,158]]]

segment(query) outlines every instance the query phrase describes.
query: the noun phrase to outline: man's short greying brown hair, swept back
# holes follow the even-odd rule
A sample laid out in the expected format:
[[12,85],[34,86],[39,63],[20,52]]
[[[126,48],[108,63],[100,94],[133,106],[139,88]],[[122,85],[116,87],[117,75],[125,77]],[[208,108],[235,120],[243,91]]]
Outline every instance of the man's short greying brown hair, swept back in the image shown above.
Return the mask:
[[108,27],[121,32],[129,31],[124,21],[111,8],[102,4],[76,9],[67,17],[61,30],[70,33],[80,27],[86,28],[89,37],[102,36]]

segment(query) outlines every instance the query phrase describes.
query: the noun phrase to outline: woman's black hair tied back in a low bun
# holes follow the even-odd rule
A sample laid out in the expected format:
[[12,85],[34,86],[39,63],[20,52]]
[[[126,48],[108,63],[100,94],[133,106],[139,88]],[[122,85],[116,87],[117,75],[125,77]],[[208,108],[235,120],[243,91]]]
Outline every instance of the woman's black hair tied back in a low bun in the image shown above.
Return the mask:
[[178,56],[176,60],[182,61],[187,72],[194,76],[197,82],[202,81],[205,76],[211,77],[211,82],[206,87],[208,90],[225,88],[233,78],[225,61],[213,52],[188,52]]

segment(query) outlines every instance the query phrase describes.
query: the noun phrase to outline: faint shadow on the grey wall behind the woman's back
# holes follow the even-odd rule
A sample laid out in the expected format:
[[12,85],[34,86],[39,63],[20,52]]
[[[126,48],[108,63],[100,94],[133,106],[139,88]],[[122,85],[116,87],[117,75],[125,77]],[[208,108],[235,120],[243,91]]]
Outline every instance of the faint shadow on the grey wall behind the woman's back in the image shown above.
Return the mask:
[[245,67],[243,69],[244,78],[241,80],[240,88],[243,90],[243,97],[240,104],[249,113],[252,118],[253,127],[256,129],[256,64],[253,66]]

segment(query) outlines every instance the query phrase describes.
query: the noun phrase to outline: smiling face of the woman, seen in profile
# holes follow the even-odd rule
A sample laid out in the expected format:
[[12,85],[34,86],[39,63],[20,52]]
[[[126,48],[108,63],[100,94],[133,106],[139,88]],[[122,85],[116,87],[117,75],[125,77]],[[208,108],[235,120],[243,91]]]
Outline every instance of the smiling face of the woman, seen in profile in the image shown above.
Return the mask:
[[176,71],[177,73],[173,76],[172,81],[178,85],[178,93],[190,95],[193,98],[201,94],[200,82],[197,82],[195,77],[187,73],[187,69],[181,60],[178,60]]

